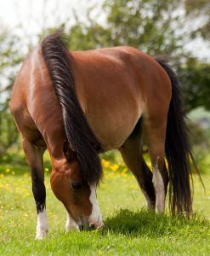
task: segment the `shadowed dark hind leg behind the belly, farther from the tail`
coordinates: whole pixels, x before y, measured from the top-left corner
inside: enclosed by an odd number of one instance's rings
[[[141,131],[138,126],[136,126],[135,130],[137,132],[134,131],[119,150],[122,154],[122,159],[133,172],[140,189],[145,195],[148,209],[153,210],[155,208],[156,195],[152,183],[152,172],[150,172],[150,168],[146,165],[141,154]]]

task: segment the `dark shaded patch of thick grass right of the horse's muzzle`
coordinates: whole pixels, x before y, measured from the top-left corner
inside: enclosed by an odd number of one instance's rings
[[[131,212],[128,209],[117,211],[112,217],[105,220],[105,228],[102,234],[115,233],[126,236],[184,236],[184,234],[198,235],[207,232],[210,224],[207,220],[193,217],[190,221],[177,217],[163,216],[155,212],[148,212],[145,208],[139,212]]]

